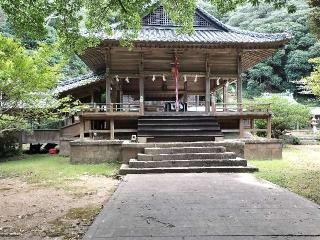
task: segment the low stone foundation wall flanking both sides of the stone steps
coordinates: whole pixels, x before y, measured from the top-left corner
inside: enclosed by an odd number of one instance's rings
[[[121,161],[127,164],[137,158],[144,148],[175,147],[182,143],[132,143],[122,140],[76,140],[70,142],[70,161],[72,163],[103,163]],[[224,140],[212,142],[223,146],[227,152],[247,160],[268,160],[282,158],[282,142],[275,139]],[[65,151],[66,152],[66,151]]]

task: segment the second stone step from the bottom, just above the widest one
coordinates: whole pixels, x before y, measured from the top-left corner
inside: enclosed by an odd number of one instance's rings
[[[130,168],[169,168],[169,167],[217,167],[217,166],[247,166],[247,161],[236,159],[193,159],[193,160],[162,160],[138,161],[130,159]]]

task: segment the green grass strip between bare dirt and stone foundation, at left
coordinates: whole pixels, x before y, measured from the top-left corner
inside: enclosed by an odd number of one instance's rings
[[[114,176],[119,163],[77,164],[69,163],[69,158],[52,155],[30,155],[20,160],[0,162],[0,177],[23,177],[29,183],[55,184],[76,179],[81,175]]]

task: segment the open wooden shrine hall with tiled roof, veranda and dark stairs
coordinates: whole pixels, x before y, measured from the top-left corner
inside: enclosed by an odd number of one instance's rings
[[[142,21],[131,50],[119,43],[123,32],[102,35],[99,46],[80,56],[92,73],[59,84],[61,96],[84,104],[73,135],[136,135],[142,142],[243,138],[257,133],[255,119],[266,119],[267,129],[259,131],[271,137],[270,106],[244,104],[240,76],[283,47],[287,34],[235,29],[199,7],[192,35],[178,34],[162,7]]]

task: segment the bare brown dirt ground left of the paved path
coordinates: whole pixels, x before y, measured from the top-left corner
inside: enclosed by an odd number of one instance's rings
[[[59,187],[0,179],[0,239],[81,239],[118,183],[89,175]]]

